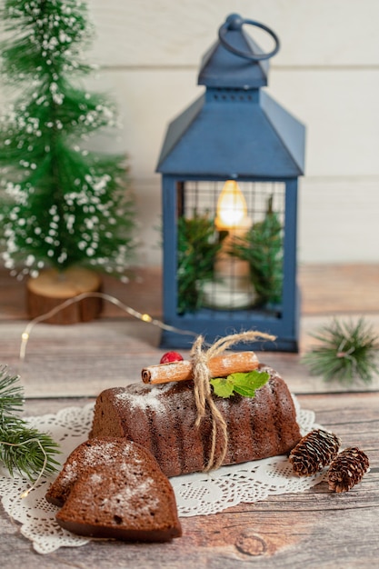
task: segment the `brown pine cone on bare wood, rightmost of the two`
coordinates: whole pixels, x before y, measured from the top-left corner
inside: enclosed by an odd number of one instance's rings
[[[354,484],[361,482],[370,463],[364,451],[357,446],[345,448],[330,465],[328,473],[329,490],[348,492]]]

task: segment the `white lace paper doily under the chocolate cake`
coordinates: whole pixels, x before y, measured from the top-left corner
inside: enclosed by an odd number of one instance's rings
[[[302,434],[319,425],[314,413],[300,409],[296,400],[297,421]],[[57,414],[30,417],[27,421],[40,432],[53,436],[60,444],[61,464],[78,444],[84,442],[92,424],[94,404],[68,407]],[[208,515],[221,512],[240,502],[253,503],[269,495],[303,492],[320,483],[324,473],[299,478],[285,456],[224,466],[210,474],[187,474],[171,478],[179,516]],[[35,551],[47,554],[61,546],[86,544],[89,540],[63,530],[55,522],[58,508],[48,504],[45,493],[53,477],[43,478],[25,498],[20,495],[28,488],[22,477],[11,478],[0,467],[0,494],[5,512],[21,524],[21,533],[33,542]]]

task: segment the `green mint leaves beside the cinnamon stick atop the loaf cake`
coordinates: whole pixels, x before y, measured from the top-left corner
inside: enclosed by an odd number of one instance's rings
[[[214,394],[219,397],[230,397],[234,392],[244,397],[254,397],[255,391],[269,380],[267,372],[253,370],[246,374],[230,374],[227,377],[217,377],[211,379],[214,387]]]

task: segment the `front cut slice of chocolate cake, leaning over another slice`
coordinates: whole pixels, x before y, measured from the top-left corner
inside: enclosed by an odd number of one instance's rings
[[[82,473],[56,514],[57,523],[74,534],[125,541],[180,537],[171,484],[153,456],[137,445],[134,451],[134,461],[118,458]]]

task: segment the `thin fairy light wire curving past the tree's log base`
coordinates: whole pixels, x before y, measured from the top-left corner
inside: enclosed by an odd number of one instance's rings
[[[119,308],[124,310],[125,313],[130,314],[135,319],[140,320],[141,322],[145,322],[147,324],[153,324],[154,326],[157,326],[157,327],[161,328],[162,330],[166,330],[168,332],[175,332],[176,334],[192,335],[194,337],[197,337],[197,334],[191,330],[182,330],[180,328],[176,328],[175,326],[165,324],[164,322],[162,322],[161,320],[158,320],[157,318],[154,318],[150,314],[141,313],[138,310],[135,310],[135,308],[132,308],[131,306],[128,306],[127,304],[124,304],[121,300],[119,300],[118,298],[116,298],[112,294],[81,293],[81,294],[77,294],[73,298],[69,298],[68,300],[65,300],[61,304],[58,304],[57,306],[55,306],[54,308],[52,308],[51,310],[49,310],[45,314],[40,314],[39,316],[36,316],[33,320],[31,320],[27,324],[24,332],[21,334],[21,345],[20,345],[20,356],[19,357],[20,357],[20,360],[22,363],[24,363],[24,361],[25,361],[26,346],[27,346],[27,343],[29,341],[31,332],[32,332],[33,328],[35,327],[35,324],[38,324],[40,322],[44,322],[44,320],[51,318],[52,316],[54,316],[55,314],[57,314],[61,310],[64,310],[67,306],[70,306],[71,304],[80,302],[81,300],[85,300],[85,298],[101,298],[102,300],[105,300],[105,301],[108,301],[112,304],[115,304],[116,306],[118,306]]]

